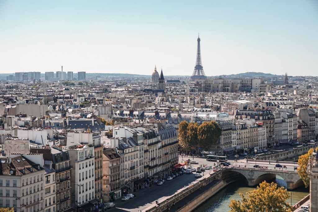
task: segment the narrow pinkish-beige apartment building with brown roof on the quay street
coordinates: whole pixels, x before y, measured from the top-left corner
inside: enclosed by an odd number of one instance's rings
[[[121,197],[121,156],[117,148],[105,148],[103,151],[103,181],[104,202]]]

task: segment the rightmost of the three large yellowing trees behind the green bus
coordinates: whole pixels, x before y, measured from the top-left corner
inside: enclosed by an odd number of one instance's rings
[[[209,150],[213,145],[217,144],[222,133],[221,128],[215,121],[205,121],[198,127],[199,146],[205,150]]]

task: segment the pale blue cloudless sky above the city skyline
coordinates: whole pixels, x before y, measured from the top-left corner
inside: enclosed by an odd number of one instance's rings
[[[0,0],[0,73],[318,76],[318,1]]]

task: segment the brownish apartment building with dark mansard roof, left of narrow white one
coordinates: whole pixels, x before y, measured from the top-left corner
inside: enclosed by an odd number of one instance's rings
[[[69,152],[60,145],[45,146],[44,148],[31,148],[31,153],[44,155],[45,163],[52,162],[56,181],[56,211],[62,212],[72,207],[71,202],[71,163]]]

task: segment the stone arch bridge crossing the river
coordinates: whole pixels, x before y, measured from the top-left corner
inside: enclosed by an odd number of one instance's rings
[[[284,179],[289,190],[303,185],[298,172],[292,170],[247,167],[225,167],[222,170],[222,179],[229,179],[238,175],[243,175],[246,178],[248,186],[258,185],[264,180],[272,180],[276,178],[276,175]]]

